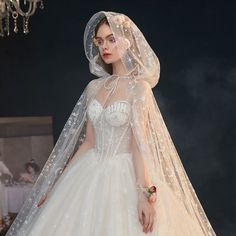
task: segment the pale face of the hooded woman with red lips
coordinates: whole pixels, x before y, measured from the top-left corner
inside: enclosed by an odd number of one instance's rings
[[[122,56],[122,40],[118,41],[107,24],[102,24],[95,37],[96,45],[98,46],[100,55],[106,64],[115,63]],[[124,51],[124,50],[123,50]]]

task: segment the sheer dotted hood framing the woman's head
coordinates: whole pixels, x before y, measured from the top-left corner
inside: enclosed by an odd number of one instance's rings
[[[137,80],[146,80],[154,87],[160,75],[159,60],[135,23],[121,13],[101,11],[88,22],[84,33],[84,48],[91,73],[99,77],[109,75],[94,44],[95,28],[103,18],[107,19],[116,42],[126,41],[118,47],[126,74],[132,74]]]

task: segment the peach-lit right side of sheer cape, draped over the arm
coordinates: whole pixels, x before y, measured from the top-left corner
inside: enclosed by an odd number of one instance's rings
[[[173,232],[181,232],[179,225],[182,221],[194,228],[191,235],[215,235],[185,172],[150,85],[144,81],[138,82],[132,91],[131,127],[135,140],[132,141],[132,152],[137,184],[157,186],[157,212],[166,215],[173,225]]]

